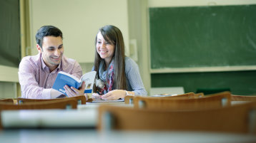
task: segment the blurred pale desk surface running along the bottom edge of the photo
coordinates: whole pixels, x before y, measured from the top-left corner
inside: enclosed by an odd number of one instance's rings
[[[205,132],[97,132],[95,129],[7,129],[0,131],[0,142],[8,143],[238,143],[256,142],[256,137],[243,134]]]

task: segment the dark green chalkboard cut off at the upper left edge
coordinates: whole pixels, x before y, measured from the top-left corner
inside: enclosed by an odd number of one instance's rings
[[[19,0],[0,0],[0,65],[18,68],[21,60]]]

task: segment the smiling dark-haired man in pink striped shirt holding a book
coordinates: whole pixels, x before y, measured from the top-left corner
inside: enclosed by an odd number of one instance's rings
[[[82,68],[76,60],[66,58],[62,32],[54,26],[42,26],[36,33],[36,48],[39,54],[26,56],[19,64],[19,83],[21,97],[51,99],[63,96],[52,89],[56,75],[64,71],[77,78],[82,76]],[[84,95],[85,85],[77,90],[65,86],[69,97]]]

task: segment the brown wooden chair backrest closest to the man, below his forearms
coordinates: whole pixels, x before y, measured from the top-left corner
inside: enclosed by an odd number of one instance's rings
[[[74,96],[74,97],[54,98],[54,99],[29,99],[29,98],[22,98],[22,97],[17,98],[18,104],[23,104],[26,102],[44,102],[44,101],[60,101],[60,100],[77,100],[78,105],[85,105],[87,102],[86,97],[84,95]]]

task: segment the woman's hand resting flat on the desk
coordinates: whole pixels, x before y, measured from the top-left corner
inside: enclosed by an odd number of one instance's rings
[[[124,98],[126,95],[125,90],[112,90],[102,95],[102,100],[118,100],[119,98]]]

